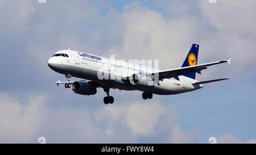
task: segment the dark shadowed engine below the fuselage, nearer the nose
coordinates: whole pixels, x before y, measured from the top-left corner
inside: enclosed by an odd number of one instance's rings
[[[97,93],[96,87],[82,81],[75,81],[72,85],[72,90],[80,95],[94,95]]]

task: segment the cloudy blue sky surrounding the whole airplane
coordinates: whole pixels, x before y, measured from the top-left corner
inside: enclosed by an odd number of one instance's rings
[[[0,1],[0,143],[255,143],[255,2]],[[180,67],[192,43],[199,80],[229,77],[191,93],[143,100],[139,91],[76,95],[47,60],[61,49]],[[76,79],[76,78],[73,78]]]

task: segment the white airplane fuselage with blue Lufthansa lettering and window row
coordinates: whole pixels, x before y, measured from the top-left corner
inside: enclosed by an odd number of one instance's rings
[[[61,53],[68,55],[68,57],[58,55],[48,60],[49,67],[55,70],[55,72],[61,74],[70,73],[73,77],[96,81],[101,83],[101,85],[114,89],[140,91],[149,89],[153,94],[171,95],[203,87],[203,85],[192,85],[192,83],[197,81],[185,76],[179,76],[179,81],[175,78],[166,78],[163,81],[159,81],[155,86],[148,88],[135,87],[129,85],[122,77],[134,73],[150,73],[156,69],[72,50],[58,51],[55,55]]]

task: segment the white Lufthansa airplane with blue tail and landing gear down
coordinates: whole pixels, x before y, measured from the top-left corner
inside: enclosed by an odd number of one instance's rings
[[[174,95],[203,88],[203,84],[222,81],[229,78],[197,81],[196,73],[208,66],[222,64],[230,60],[197,64],[199,45],[192,47],[181,68],[159,70],[151,66],[134,64],[113,58],[96,56],[85,52],[73,51],[70,48],[55,52],[48,60],[48,66],[57,73],[64,74],[67,81],[55,82],[64,84],[73,92],[81,95],[94,95],[97,88],[102,88],[107,96],[105,104],[114,103],[109,95],[110,89],[139,90],[143,99],[152,99],[153,94]],[[71,77],[81,78],[71,81]]]

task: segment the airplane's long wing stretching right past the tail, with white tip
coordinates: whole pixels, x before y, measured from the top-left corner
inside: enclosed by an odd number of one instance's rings
[[[201,74],[201,70],[207,69],[207,66],[222,64],[225,62],[229,62],[229,64],[230,64],[230,60],[231,60],[231,58],[229,60],[210,62],[207,64],[193,65],[193,66],[187,66],[187,67],[183,67],[183,68],[176,68],[176,69],[169,69],[169,70],[161,70],[158,72],[151,72],[149,74],[151,74],[151,75],[158,74],[159,80],[163,80],[164,78],[172,78],[172,77],[174,77],[177,80],[180,80],[178,76],[188,74],[188,73],[193,73],[193,72],[197,72],[197,73]]]

